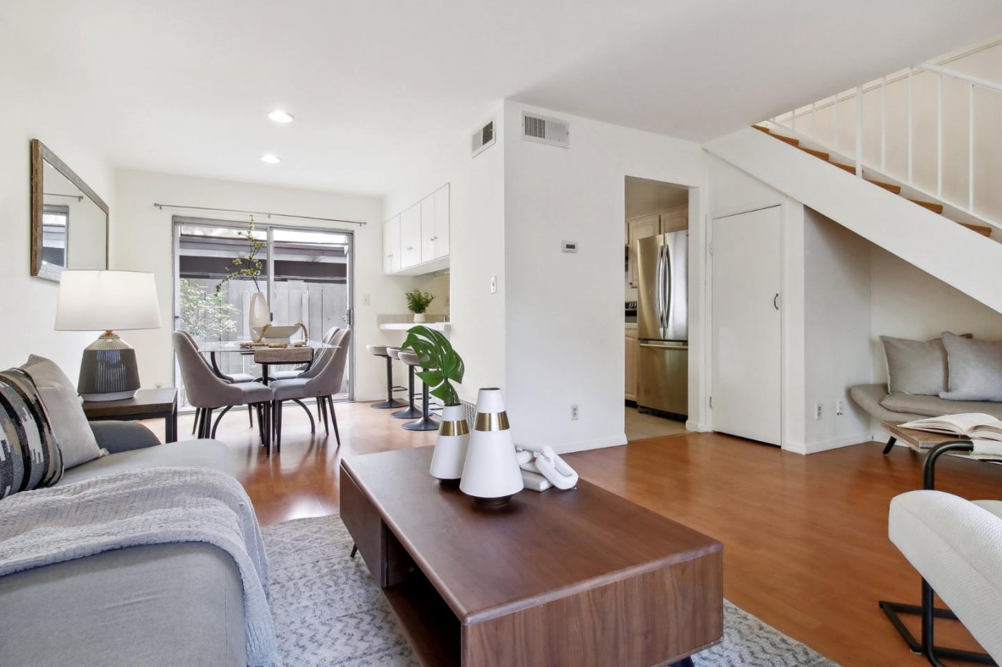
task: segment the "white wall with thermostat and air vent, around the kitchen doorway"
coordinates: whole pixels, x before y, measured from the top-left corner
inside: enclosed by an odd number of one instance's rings
[[[701,150],[539,109],[570,121],[570,147],[524,141],[525,108],[504,104],[505,394],[514,437],[563,451],[622,444],[624,176],[697,187]],[[690,214],[700,210],[696,200]],[[692,247],[700,236],[691,233]],[[580,249],[563,253],[561,240]],[[690,317],[697,329],[698,304]],[[701,351],[690,349],[690,359],[693,352]]]

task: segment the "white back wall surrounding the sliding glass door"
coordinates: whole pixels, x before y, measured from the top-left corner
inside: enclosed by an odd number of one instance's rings
[[[119,170],[117,211],[114,232],[114,262],[117,268],[151,270],[156,276],[162,326],[155,330],[127,331],[123,337],[135,349],[139,375],[144,387],[174,383],[173,352],[173,264],[171,217],[191,211],[157,209],[153,202],[239,208],[292,213],[349,220],[366,225],[311,223],[307,220],[276,219],[277,224],[317,226],[351,231],[355,234],[355,351],[356,398],[369,401],[386,397],[386,367],[381,358],[365,351],[367,344],[387,345],[391,335],[377,328],[379,312],[406,312],[404,292],[412,278],[389,278],[383,274],[383,202],[375,197],[316,190],[300,190],[255,183],[177,176],[148,171]],[[205,214],[217,219],[240,219],[233,215]],[[259,216],[259,221],[261,218]],[[365,296],[369,304],[365,304]]]

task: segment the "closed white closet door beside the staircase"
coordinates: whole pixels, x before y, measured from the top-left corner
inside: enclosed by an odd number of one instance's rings
[[[781,444],[782,208],[712,223],[713,431]]]

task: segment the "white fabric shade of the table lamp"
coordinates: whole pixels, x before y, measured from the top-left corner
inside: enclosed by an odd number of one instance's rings
[[[153,274],[144,271],[64,270],[56,304],[56,330],[158,328],[160,308]]]

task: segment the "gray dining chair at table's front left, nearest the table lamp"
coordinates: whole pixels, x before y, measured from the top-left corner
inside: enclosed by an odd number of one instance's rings
[[[259,423],[262,425],[262,444],[271,456],[271,403],[274,398],[272,390],[261,383],[228,383],[222,380],[212,372],[186,333],[174,331],[171,333],[171,339],[188,403],[201,411],[198,418],[198,437],[214,436],[213,410],[229,409],[233,406],[254,406],[258,409]]]

